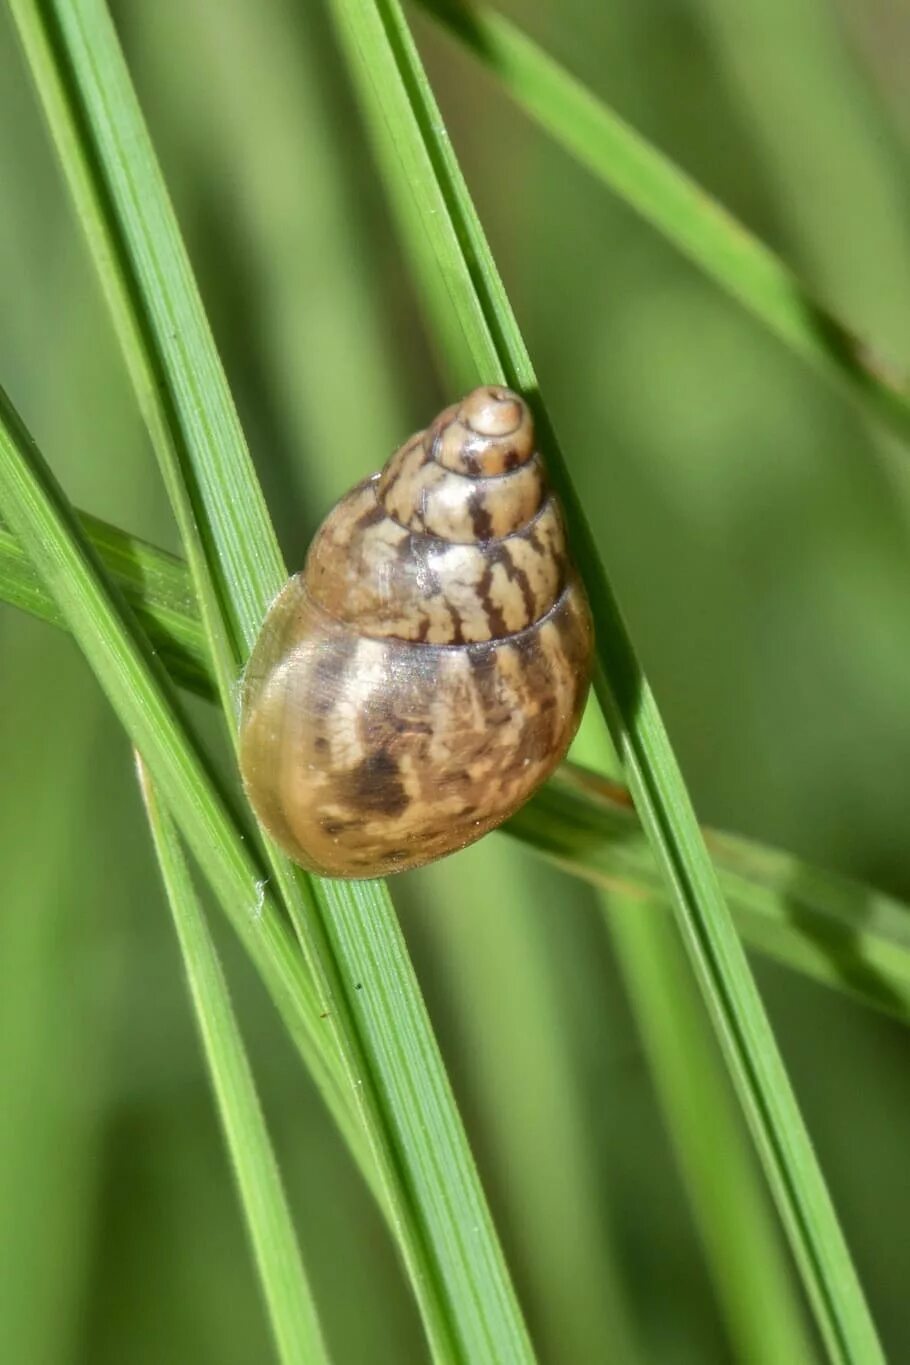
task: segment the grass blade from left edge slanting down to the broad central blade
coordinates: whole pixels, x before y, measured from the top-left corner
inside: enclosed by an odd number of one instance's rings
[[[262,867],[246,846],[164,669],[1,390],[0,515],[30,554],[371,1179],[372,1166],[349,1095],[326,1061],[312,984]]]

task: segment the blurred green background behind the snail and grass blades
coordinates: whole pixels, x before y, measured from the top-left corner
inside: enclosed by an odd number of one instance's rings
[[[906,0],[508,10],[910,370]],[[115,16],[297,566],[453,394],[322,7]],[[416,31],[699,814],[910,900],[910,453]],[[176,547],[5,14],[0,180],[0,382],[78,505]],[[64,636],[0,606],[0,1360],[267,1360],[128,745]],[[593,893],[503,835],[393,890],[542,1358],[730,1360]],[[336,1357],[423,1360],[385,1228],[220,940]],[[754,965],[907,1358],[907,1039]]]

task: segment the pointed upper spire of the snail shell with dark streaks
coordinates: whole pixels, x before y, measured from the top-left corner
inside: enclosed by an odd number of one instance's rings
[[[527,629],[566,584],[562,517],[525,404],[476,389],[338,502],[304,581],[378,639],[469,644]]]

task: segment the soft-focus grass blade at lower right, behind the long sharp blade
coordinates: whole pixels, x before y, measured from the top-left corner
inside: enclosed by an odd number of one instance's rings
[[[613,773],[598,721],[585,715],[573,758]],[[814,1351],[793,1267],[679,936],[641,885],[617,878],[598,898],[733,1358],[808,1365]]]

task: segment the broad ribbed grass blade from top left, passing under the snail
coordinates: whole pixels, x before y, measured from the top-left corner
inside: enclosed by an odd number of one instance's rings
[[[14,14],[143,401],[236,734],[236,677],[284,580],[274,532],[105,5],[14,0]],[[378,883],[357,891],[323,885],[314,900],[271,848],[269,859],[435,1353],[527,1358],[521,1313],[387,893]],[[363,1009],[356,981],[370,960],[382,980]],[[420,1061],[416,1078],[402,1055]]]

